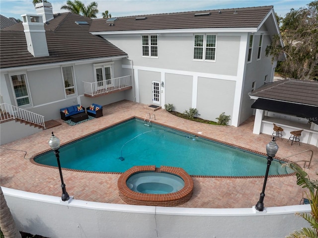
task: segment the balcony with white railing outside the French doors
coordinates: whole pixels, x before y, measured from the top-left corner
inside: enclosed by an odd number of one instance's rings
[[[85,96],[100,96],[132,88],[131,76],[107,79],[98,82],[83,82]]]

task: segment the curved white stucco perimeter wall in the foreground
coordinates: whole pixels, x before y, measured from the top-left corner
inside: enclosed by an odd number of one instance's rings
[[[282,238],[309,224],[310,205],[207,209],[87,202],[2,187],[19,231],[50,238]],[[255,201],[256,203],[257,201]],[[265,198],[266,205],[266,198]]]

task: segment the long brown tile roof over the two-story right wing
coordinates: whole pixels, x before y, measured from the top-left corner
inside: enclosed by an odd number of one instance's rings
[[[109,23],[106,22],[107,19],[94,19],[89,30],[90,32],[106,32],[158,29],[258,27],[272,8],[273,6],[259,6],[126,16],[117,17],[117,20],[112,22],[114,25],[112,25],[112,23],[109,25]],[[195,14],[208,12],[210,12],[209,15],[195,16]]]

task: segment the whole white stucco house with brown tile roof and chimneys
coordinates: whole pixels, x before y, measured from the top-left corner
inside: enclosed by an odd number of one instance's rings
[[[90,19],[44,2],[22,18],[1,30],[1,103],[44,121],[125,99],[207,120],[225,112],[239,126],[253,113],[248,92],[273,81],[273,6]]]

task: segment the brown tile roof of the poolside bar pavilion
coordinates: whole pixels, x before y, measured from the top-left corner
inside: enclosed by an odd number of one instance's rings
[[[249,95],[318,106],[318,81],[285,79],[265,84]]]

